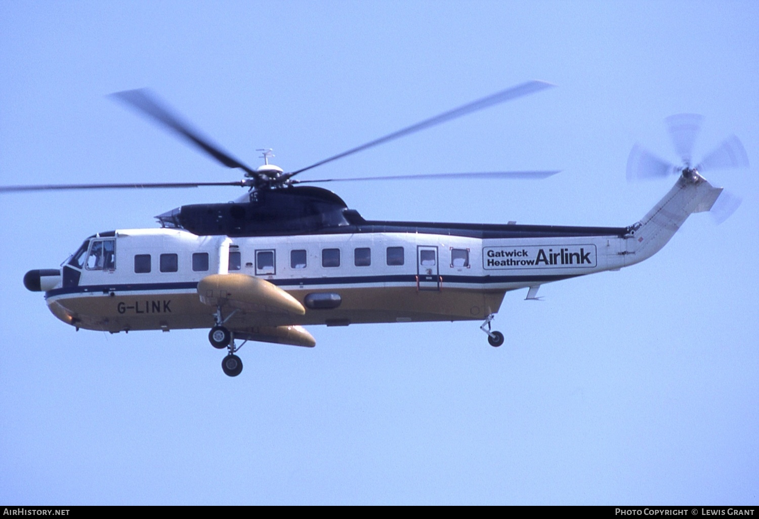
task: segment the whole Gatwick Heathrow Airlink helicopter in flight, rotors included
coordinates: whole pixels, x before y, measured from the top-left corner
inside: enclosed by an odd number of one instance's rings
[[[6,186],[0,193],[201,186],[238,186],[247,192],[231,203],[163,212],[156,216],[157,228],[93,234],[60,269],[27,272],[24,286],[44,292],[53,315],[77,330],[209,329],[210,344],[226,350],[222,370],[228,376],[241,373],[237,353],[247,341],[313,348],[316,340],[304,328],[310,325],[474,320],[482,322],[487,341],[499,347],[505,338],[492,323],[507,291],[527,288],[526,299],[537,300],[543,284],[640,263],[657,253],[689,215],[713,209],[723,189],[713,187],[701,171],[748,166],[738,138],[723,141],[691,165],[701,118],[668,118],[682,165],[636,145],[628,159],[628,178],[676,175],[676,182],[642,219],[622,227],[368,220],[332,191],[308,185],[409,178],[540,179],[559,171],[294,177],[549,87],[553,85],[543,81],[521,83],[294,171],[270,163],[271,149],[259,150],[263,165],[245,165],[148,90],[112,94],[222,165],[244,171],[244,178]]]

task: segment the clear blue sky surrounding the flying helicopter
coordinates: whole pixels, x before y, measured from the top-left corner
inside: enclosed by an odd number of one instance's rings
[[[743,197],[621,272],[507,294],[479,322],[80,331],[26,291],[84,237],[235,188],[0,199],[0,502],[759,503],[756,2],[2,2],[2,184],[237,180],[106,94],[151,87],[226,149],[298,168],[496,90],[558,88],[307,178],[563,170],[542,182],[335,184],[370,219],[628,225],[672,179],[625,182],[667,115],[729,134]]]

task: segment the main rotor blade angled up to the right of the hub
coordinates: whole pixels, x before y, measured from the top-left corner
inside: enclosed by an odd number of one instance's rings
[[[387,134],[384,137],[379,137],[379,139],[370,140],[368,143],[364,143],[361,144],[361,146],[356,146],[355,148],[348,149],[348,151],[331,156],[328,159],[320,160],[319,162],[315,162],[314,164],[306,166],[305,168],[292,171],[291,173],[287,174],[288,178],[293,177],[294,175],[298,175],[303,171],[307,171],[309,169],[316,168],[317,166],[326,164],[327,162],[332,162],[333,160],[342,159],[343,157],[364,151],[364,149],[369,149],[373,146],[378,146],[379,144],[387,143],[391,140],[414,134],[417,131],[426,130],[427,128],[436,126],[437,124],[442,124],[446,121],[451,121],[452,119],[471,114],[472,112],[477,112],[478,110],[489,108],[490,106],[497,105],[501,102],[517,99],[521,96],[527,96],[531,93],[536,93],[540,90],[544,90],[550,87],[554,87],[554,85],[551,83],[546,83],[544,81],[528,81],[527,83],[521,83],[516,87],[502,90],[498,93],[494,93],[492,96],[477,99],[477,101],[470,102],[466,105],[459,106],[456,109],[449,110],[448,112],[443,112],[442,114],[435,115],[434,117],[420,121],[417,124],[411,124],[411,126],[405,127],[402,130],[394,131],[392,134]]]

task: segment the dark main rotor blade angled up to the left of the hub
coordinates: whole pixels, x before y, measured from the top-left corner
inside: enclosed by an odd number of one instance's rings
[[[149,90],[144,88],[138,90],[124,90],[123,92],[112,93],[110,97],[124,102],[132,108],[137,109],[137,111],[142,112],[144,115],[148,115],[150,118],[163,124],[165,127],[168,127],[169,130],[175,131],[181,137],[184,137],[184,139],[190,141],[228,168],[241,168],[242,170],[255,175],[254,171],[247,165],[244,165],[238,159],[235,159],[229,153],[223,151],[216,144],[211,143],[207,137],[203,137],[200,132],[191,127],[189,123],[182,121],[178,115],[172,114],[165,105],[162,105],[155,96],[150,94]]]

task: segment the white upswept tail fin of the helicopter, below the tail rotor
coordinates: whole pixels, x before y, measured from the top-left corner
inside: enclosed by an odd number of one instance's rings
[[[681,175],[666,196],[640,222],[630,227],[625,266],[639,263],[659,252],[694,212],[708,211],[722,187],[713,187],[695,171]]]

